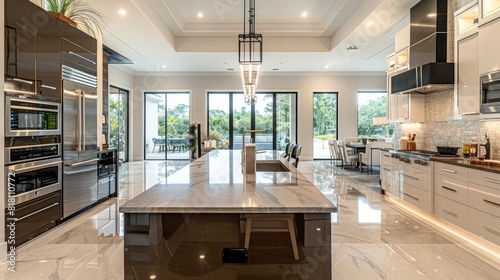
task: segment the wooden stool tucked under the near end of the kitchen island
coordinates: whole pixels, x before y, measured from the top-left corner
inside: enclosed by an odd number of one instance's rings
[[[299,259],[299,250],[297,248],[297,239],[295,238],[295,223],[293,222],[293,214],[246,214],[245,227],[245,249],[248,250],[250,245],[250,234],[252,232],[289,232],[292,240],[293,257]],[[286,228],[252,228],[253,221],[286,221]]]

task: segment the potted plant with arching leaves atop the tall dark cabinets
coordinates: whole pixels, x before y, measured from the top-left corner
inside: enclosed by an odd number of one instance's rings
[[[102,34],[103,16],[86,0],[45,0],[45,10],[96,38]]]

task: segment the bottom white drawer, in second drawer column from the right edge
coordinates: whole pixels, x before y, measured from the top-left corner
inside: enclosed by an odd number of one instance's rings
[[[467,213],[469,207],[467,205],[444,198],[440,195],[434,196],[434,202],[434,211],[436,216],[469,230],[467,223]]]

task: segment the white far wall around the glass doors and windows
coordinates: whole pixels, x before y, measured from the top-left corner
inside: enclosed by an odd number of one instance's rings
[[[144,92],[158,90],[190,90],[190,122],[206,129],[207,92],[241,91],[240,78],[234,76],[140,76],[134,77],[131,102],[134,118],[132,142],[133,160],[143,160]],[[302,157],[313,155],[313,93],[339,93],[339,138],[357,135],[357,92],[386,90],[385,76],[262,76],[258,91],[293,91],[298,97],[298,142],[303,145]],[[205,131],[203,131],[205,133]]]

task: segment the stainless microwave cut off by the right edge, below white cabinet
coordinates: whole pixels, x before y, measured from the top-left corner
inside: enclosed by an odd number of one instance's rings
[[[500,113],[500,71],[482,75],[481,113]]]

